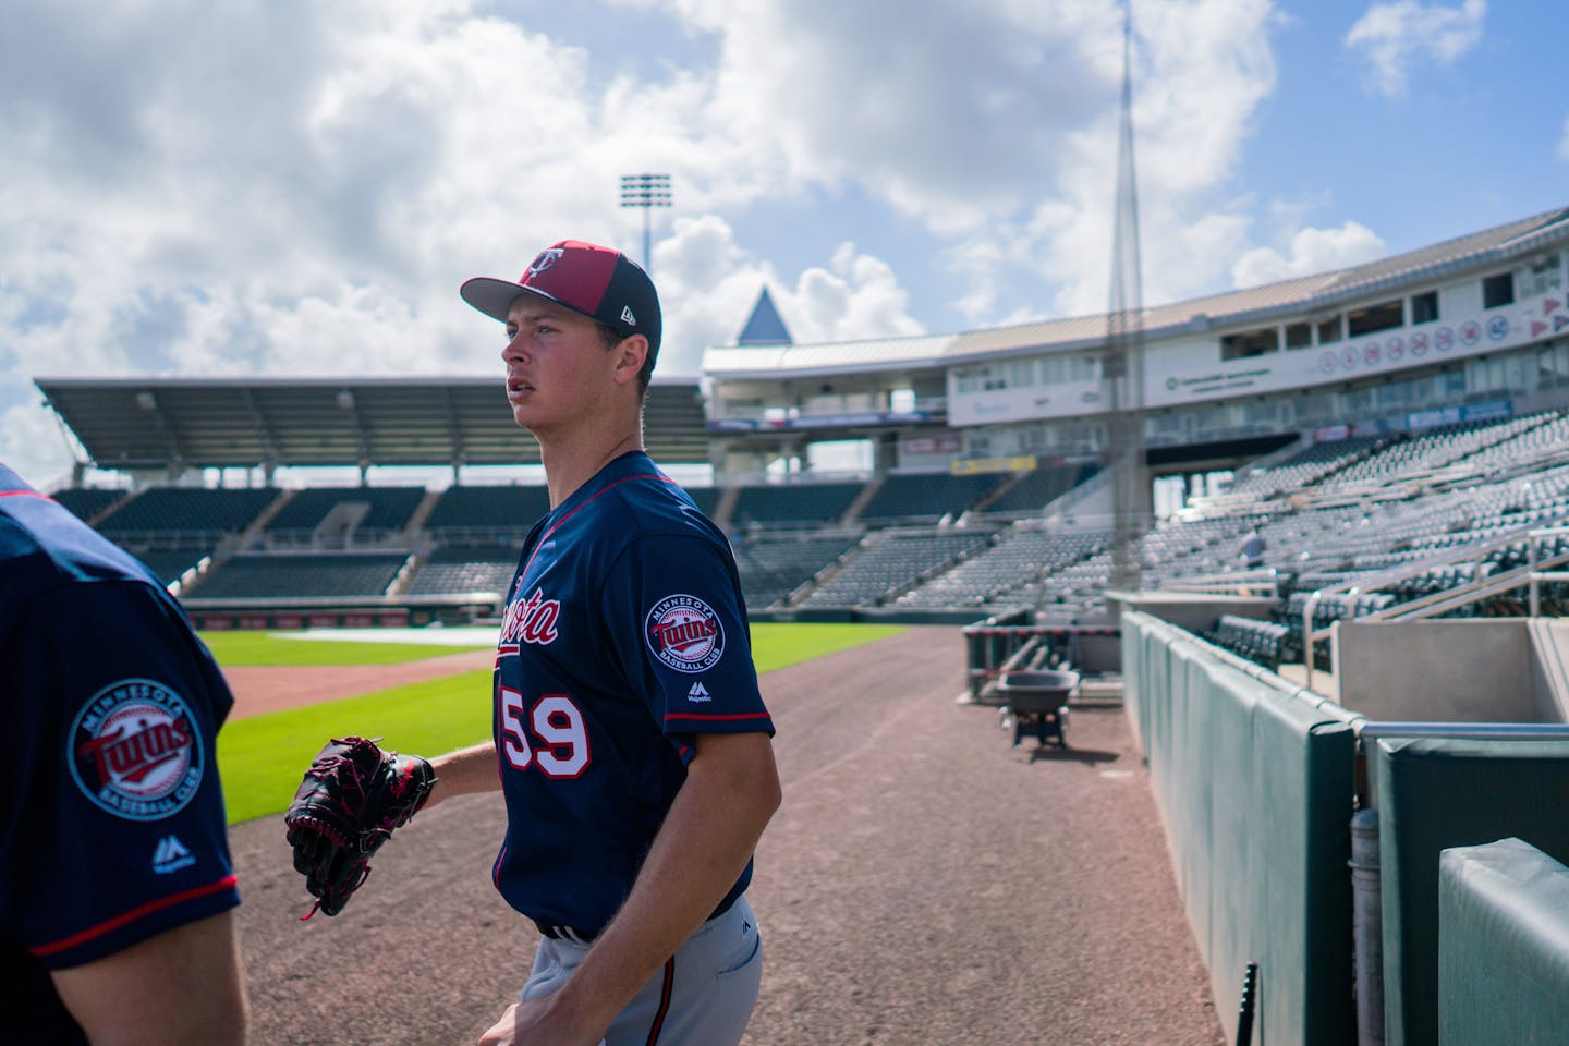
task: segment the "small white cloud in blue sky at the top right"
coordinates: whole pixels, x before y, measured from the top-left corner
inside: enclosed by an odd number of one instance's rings
[[[1461,6],[1418,0],[1374,3],[1346,33],[1345,44],[1368,63],[1368,80],[1385,97],[1403,97],[1414,66],[1453,63],[1481,41],[1487,0]]]

